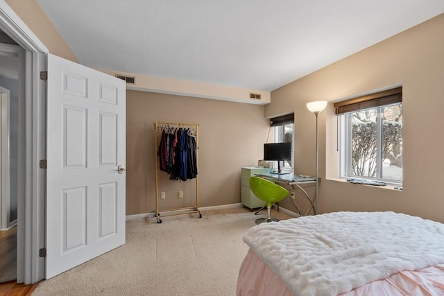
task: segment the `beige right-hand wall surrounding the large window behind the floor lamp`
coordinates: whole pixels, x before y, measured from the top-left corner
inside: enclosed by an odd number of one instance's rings
[[[296,173],[315,173],[316,121],[305,104],[330,101],[319,119],[321,212],[396,211],[444,222],[443,36],[439,15],[272,92],[266,116],[295,112]],[[403,87],[404,190],[325,180],[337,176],[331,102],[397,84]],[[282,205],[291,209],[288,200]]]

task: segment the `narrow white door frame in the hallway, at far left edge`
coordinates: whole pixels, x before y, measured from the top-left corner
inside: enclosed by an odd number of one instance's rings
[[[0,229],[10,227],[9,89],[0,86]]]

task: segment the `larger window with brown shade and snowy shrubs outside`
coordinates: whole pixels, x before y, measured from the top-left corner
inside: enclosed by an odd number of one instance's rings
[[[334,107],[340,176],[402,184],[402,88]]]

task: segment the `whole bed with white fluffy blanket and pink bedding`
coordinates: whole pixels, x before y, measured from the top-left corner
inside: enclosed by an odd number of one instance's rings
[[[237,295],[444,295],[444,224],[393,212],[262,223]]]

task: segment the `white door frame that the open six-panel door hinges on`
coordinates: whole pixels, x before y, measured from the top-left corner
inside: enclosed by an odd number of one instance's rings
[[[44,278],[46,89],[40,71],[46,70],[49,50],[4,0],[0,0],[0,29],[25,50],[19,79],[19,180],[17,218],[17,282],[33,284]],[[20,76],[20,74],[19,74]]]

